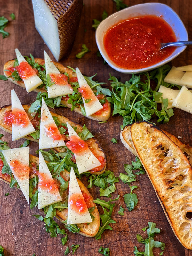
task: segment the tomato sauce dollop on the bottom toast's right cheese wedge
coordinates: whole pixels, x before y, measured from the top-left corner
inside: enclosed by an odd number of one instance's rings
[[[69,204],[74,211],[81,214],[87,209],[87,205],[82,194],[72,194],[69,198]]]

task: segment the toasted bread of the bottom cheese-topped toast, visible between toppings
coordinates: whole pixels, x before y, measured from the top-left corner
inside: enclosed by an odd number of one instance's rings
[[[30,163],[35,163],[37,166],[39,165],[39,158],[36,156],[30,155],[29,161],[30,161]],[[65,170],[65,171],[61,172],[61,174],[63,177],[65,177],[66,180],[69,180],[70,173],[68,171]],[[7,184],[10,184],[11,177],[9,174],[1,174],[1,172],[0,172],[0,180],[4,181]],[[99,212],[98,212],[97,206],[93,202],[93,198],[90,195],[87,188],[84,186],[84,184],[79,179],[77,179],[77,181],[78,181],[81,191],[90,196],[90,199],[89,199],[90,207],[95,207],[95,209],[92,211],[92,215],[95,217],[95,219],[89,225],[87,225],[87,223],[78,224],[78,227],[80,228],[79,234],[81,234],[83,236],[87,236],[87,237],[94,237],[94,236],[96,236],[97,232],[99,231],[99,227],[100,227]],[[64,221],[67,219],[67,213],[68,213],[68,209],[63,209],[61,212],[56,210],[55,217],[64,223]]]

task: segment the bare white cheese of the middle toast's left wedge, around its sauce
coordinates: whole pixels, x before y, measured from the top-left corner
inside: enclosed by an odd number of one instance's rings
[[[13,90],[11,90],[11,109],[12,109],[12,111],[14,110],[14,108],[25,112],[15,90],[13,89]],[[20,138],[23,138],[23,137],[35,132],[35,129],[34,129],[33,125],[31,124],[31,121],[26,112],[25,112],[25,114],[26,114],[26,119],[28,119],[28,122],[29,122],[28,126],[21,127],[20,125],[12,124],[12,140],[13,141],[19,140]]]

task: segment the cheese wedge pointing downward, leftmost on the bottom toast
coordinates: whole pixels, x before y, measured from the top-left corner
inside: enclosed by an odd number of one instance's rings
[[[7,164],[9,164],[23,195],[29,203],[29,147],[6,149],[1,152],[4,155]],[[25,168],[21,169],[20,166],[18,167],[18,170],[16,170],[11,164],[12,161],[19,161]]]

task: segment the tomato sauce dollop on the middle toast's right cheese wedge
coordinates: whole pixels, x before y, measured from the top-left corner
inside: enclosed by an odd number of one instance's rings
[[[88,149],[88,144],[84,140],[81,140],[76,136],[70,136],[68,139],[69,141],[66,143],[66,146],[73,153],[81,155]]]

